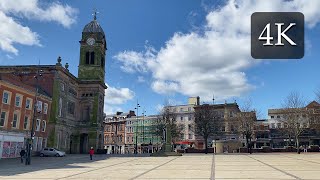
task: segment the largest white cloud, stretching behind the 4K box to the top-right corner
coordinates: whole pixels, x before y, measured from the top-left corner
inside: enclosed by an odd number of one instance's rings
[[[258,61],[250,56],[250,20],[253,12],[301,11],[307,27],[320,20],[318,0],[229,0],[210,11],[202,33],[175,33],[159,51],[124,51],[115,56],[126,72],[152,72],[155,92],[181,93],[217,100],[246,94],[255,86],[245,73]]]

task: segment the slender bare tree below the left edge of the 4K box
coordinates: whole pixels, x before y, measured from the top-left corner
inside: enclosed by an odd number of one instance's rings
[[[252,108],[252,101],[246,100],[242,107],[241,112],[237,114],[237,132],[240,136],[246,139],[247,152],[252,153],[252,136],[257,125],[257,112]]]

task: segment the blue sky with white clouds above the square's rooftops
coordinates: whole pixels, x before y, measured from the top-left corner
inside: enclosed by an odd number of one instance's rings
[[[319,0],[1,0],[0,65],[52,65],[78,75],[81,32],[97,21],[107,39],[105,113],[157,114],[163,105],[248,99],[266,118],[291,92],[307,101],[320,88]],[[254,12],[302,12],[305,56],[257,60]]]

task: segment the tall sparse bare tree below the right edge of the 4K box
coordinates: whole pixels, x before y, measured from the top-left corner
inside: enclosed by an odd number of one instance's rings
[[[309,112],[305,108],[305,98],[298,92],[291,92],[283,101],[282,122],[284,131],[289,137],[295,139],[297,153],[300,153],[299,140],[301,134],[307,129],[309,123]]]

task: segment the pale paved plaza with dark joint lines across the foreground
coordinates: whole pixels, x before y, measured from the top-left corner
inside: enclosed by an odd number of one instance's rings
[[[320,154],[87,155],[0,160],[0,179],[319,179]]]

